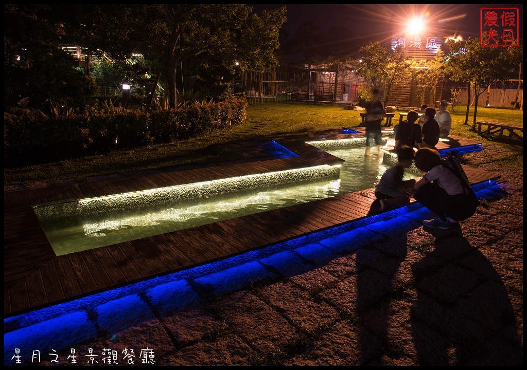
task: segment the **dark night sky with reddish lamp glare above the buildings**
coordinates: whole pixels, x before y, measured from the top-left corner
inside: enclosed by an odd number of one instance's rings
[[[393,31],[407,24],[414,15],[429,15],[430,21],[450,19],[441,23],[443,33],[479,37],[480,8],[482,7],[513,7],[519,8],[519,34],[523,38],[523,5],[522,4],[249,4],[255,12],[262,9],[275,9],[281,5],[287,6],[287,22],[285,31],[294,33],[302,23],[313,21],[319,25],[320,31],[331,26],[346,26],[353,31],[353,37],[376,37],[379,41],[393,35]],[[324,21],[323,21],[324,20]],[[436,24],[437,25],[437,24]]]

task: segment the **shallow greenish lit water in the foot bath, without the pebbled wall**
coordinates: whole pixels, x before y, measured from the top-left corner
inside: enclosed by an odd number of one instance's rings
[[[324,150],[345,160],[340,174],[208,195],[200,195],[194,189],[190,199],[172,197],[172,200],[163,198],[149,204],[137,202],[108,212],[65,211],[64,205],[73,202],[37,206],[35,212],[55,253],[63,255],[360,191],[374,187],[391,166],[383,157],[365,158],[363,146]],[[405,179],[417,176],[416,172],[405,173]],[[96,199],[91,202],[95,204]],[[72,209],[80,209],[77,203]],[[46,207],[59,206],[63,208],[55,213],[61,214],[61,219],[48,217],[50,208]]]

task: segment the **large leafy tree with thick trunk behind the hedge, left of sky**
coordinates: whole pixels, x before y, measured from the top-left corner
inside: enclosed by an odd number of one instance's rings
[[[216,69],[231,74],[236,62],[257,71],[278,64],[275,53],[286,8],[260,15],[251,12],[252,7],[245,4],[164,5],[165,22],[172,32],[159,55],[158,78],[161,73],[165,76],[171,108],[177,107],[177,76],[183,74],[183,63],[201,66],[207,73]]]

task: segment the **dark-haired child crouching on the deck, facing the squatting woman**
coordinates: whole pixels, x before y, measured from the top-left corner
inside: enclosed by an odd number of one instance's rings
[[[410,203],[402,183],[404,169],[412,165],[413,159],[414,148],[404,145],[397,150],[397,163],[388,168],[375,185],[375,197],[379,199],[380,211]]]

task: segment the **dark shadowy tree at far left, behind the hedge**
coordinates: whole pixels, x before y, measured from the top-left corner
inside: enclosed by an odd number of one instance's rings
[[[61,27],[40,17],[46,4],[4,7],[4,106],[30,97],[33,108],[81,106],[96,86],[73,68],[73,58],[58,48]]]

